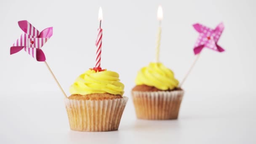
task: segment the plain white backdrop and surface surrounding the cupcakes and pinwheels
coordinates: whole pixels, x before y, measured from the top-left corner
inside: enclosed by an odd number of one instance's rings
[[[120,74],[131,98],[137,71],[155,59],[159,4],[160,61],[180,81],[195,59],[192,24],[225,25],[219,45],[226,51],[203,50],[183,85],[178,120],[137,120],[129,99],[119,131],[70,131],[63,95],[45,64],[24,51],[9,55],[22,33],[17,21],[28,20],[40,31],[53,27],[43,51],[69,94],[75,78],[95,64],[101,6],[101,66]],[[255,0],[1,0],[0,143],[255,144],[255,6]]]

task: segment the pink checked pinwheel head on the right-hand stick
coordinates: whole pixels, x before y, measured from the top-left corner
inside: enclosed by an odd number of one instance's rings
[[[215,29],[210,29],[202,24],[194,24],[193,27],[200,33],[194,47],[195,54],[200,53],[204,47],[219,52],[225,51],[217,44],[219,37],[224,30],[223,23],[220,23]]]

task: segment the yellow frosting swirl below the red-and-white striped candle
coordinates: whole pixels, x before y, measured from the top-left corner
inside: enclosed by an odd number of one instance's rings
[[[89,69],[75,80],[69,91],[71,94],[110,93],[123,96],[124,85],[119,80],[119,75],[112,71],[96,72]]]

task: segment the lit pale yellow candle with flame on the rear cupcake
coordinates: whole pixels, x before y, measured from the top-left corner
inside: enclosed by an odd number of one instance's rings
[[[163,20],[163,8],[161,5],[158,6],[157,11],[157,19],[159,21],[159,27],[157,32],[157,46],[156,46],[156,62],[159,61],[159,48],[160,48],[160,41],[161,41],[161,32],[162,32],[162,20]]]

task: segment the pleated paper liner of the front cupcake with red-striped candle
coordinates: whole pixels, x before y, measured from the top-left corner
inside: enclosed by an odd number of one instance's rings
[[[128,97],[108,100],[65,99],[69,126],[73,131],[116,131]]]

